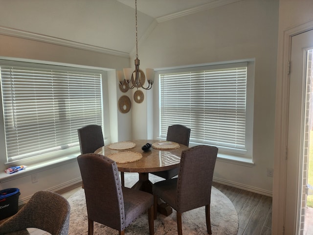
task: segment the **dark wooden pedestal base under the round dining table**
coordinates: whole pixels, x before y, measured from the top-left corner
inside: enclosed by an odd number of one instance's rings
[[[149,180],[149,173],[139,173],[139,180],[132,188],[153,194],[152,186],[153,184]],[[165,216],[168,216],[173,212],[173,209],[167,203],[164,203],[159,199],[157,211]]]

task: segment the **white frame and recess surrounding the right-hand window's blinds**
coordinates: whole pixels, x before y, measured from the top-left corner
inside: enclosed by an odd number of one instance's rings
[[[199,71],[209,70],[215,68],[224,68],[225,66],[233,66],[237,63],[247,63],[246,71],[246,151],[236,151],[229,148],[219,146],[218,157],[220,159],[234,160],[236,162],[244,162],[253,164],[253,110],[254,110],[254,71],[255,61],[254,59],[219,62],[219,63],[208,63],[201,65],[189,65],[180,66],[174,68],[162,68],[156,69],[156,80],[155,80],[155,94],[154,94],[154,107],[155,107],[155,127],[154,133],[157,139],[164,140],[164,137],[160,136],[160,74],[164,73],[176,73],[186,71]],[[179,124],[179,123],[177,123]],[[189,146],[195,146],[203,144],[201,142],[190,141]]]

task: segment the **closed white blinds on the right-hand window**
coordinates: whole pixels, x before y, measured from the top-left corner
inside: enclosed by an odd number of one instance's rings
[[[160,136],[183,124],[192,142],[245,150],[246,66],[160,74]]]

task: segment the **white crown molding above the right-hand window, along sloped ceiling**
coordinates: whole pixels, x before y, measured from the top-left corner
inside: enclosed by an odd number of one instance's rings
[[[197,13],[197,12],[204,11],[207,9],[212,9],[212,8],[216,8],[219,6],[224,6],[224,5],[227,5],[227,4],[230,4],[233,2],[237,2],[237,1],[242,1],[242,0],[215,0],[215,1],[203,4],[203,5],[200,5],[200,6],[189,8],[187,10],[183,10],[183,11],[175,12],[173,14],[168,14],[165,16],[158,17],[158,18],[156,18],[156,21],[157,21],[157,23],[161,23],[164,21],[169,21],[169,20],[172,20],[175,18],[179,18],[179,17],[186,16],[186,15],[193,14],[193,13]]]

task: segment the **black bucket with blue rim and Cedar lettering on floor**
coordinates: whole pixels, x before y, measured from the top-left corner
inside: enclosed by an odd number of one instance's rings
[[[18,212],[20,194],[19,188],[0,190],[0,220]]]

